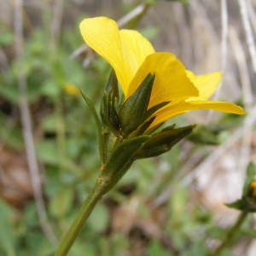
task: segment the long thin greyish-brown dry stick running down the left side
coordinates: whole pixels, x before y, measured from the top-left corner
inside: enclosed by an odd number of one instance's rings
[[[17,57],[23,52],[23,22],[22,22],[22,0],[15,0],[15,51]],[[41,224],[42,230],[53,244],[56,243],[55,235],[49,225],[46,210],[44,206],[44,199],[41,190],[40,174],[38,170],[38,162],[36,159],[35,146],[32,137],[32,119],[30,110],[28,107],[26,96],[26,77],[23,73],[19,74],[18,78],[19,92],[20,92],[20,117],[22,132],[26,147],[26,158],[30,176],[32,179],[33,195],[36,202],[38,211],[38,218]]]

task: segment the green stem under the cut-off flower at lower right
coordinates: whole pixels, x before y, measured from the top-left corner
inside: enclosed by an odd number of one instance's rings
[[[241,224],[243,224],[246,218],[247,212],[241,212],[239,217],[236,219],[236,223],[230,228],[230,230],[226,234],[224,241],[219,245],[219,247],[217,247],[214,253],[211,253],[210,255],[220,255],[220,253],[222,253],[226,247],[230,246],[237,234],[237,231],[240,229]]]

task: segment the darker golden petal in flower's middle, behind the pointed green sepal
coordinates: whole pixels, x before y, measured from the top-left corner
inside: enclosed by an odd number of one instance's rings
[[[198,96],[198,90],[187,78],[185,67],[177,57],[167,52],[148,55],[131,81],[128,96],[137,90],[148,73],[154,73],[154,85],[148,108],[160,102],[182,100]]]

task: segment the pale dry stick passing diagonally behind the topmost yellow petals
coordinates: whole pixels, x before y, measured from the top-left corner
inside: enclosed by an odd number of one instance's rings
[[[135,9],[132,9],[130,13],[123,16],[121,19],[118,20],[119,27],[124,27],[127,23],[131,20],[136,19],[140,15],[143,15],[147,12],[148,8],[150,7],[149,3],[142,3],[138,5]],[[73,51],[73,54],[70,55],[71,59],[76,58],[77,56],[83,54],[84,52],[88,51],[89,47],[86,44],[81,45],[78,49]]]

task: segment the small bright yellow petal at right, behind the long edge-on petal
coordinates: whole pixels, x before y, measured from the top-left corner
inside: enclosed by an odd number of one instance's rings
[[[222,76],[220,72],[207,73],[205,75],[195,75],[192,71],[186,71],[189,80],[199,90],[199,96],[190,98],[190,101],[207,100],[217,90]]]

